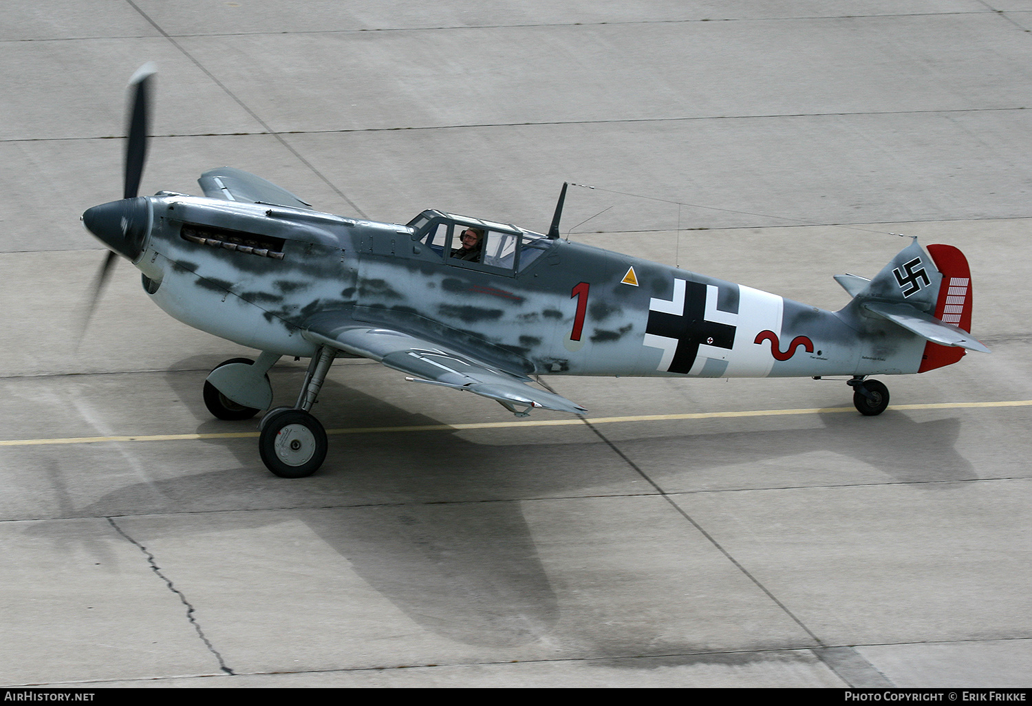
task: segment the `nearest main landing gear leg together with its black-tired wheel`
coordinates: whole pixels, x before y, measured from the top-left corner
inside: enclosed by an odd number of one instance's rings
[[[326,430],[309,411],[335,356],[336,350],[320,348],[309,364],[297,404],[270,410],[258,425],[258,453],[265,467],[281,478],[311,476],[326,458]]]

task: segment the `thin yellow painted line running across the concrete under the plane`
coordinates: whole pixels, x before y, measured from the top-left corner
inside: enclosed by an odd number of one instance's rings
[[[934,405],[893,405],[889,409],[964,410],[977,408],[1032,407],[1032,399],[990,403],[939,403]],[[804,414],[856,412],[852,407],[826,407],[805,410],[746,410],[742,412],[692,412],[686,414],[640,414],[625,417],[574,417],[569,419],[525,419],[522,421],[473,422],[469,424],[422,424],[418,426],[357,426],[347,429],[326,429],[327,435],[390,434],[397,431],[460,431],[463,429],[501,429],[517,426],[575,426],[585,421],[591,424],[620,422],[680,421],[687,419],[725,419],[730,417],[783,417]],[[257,439],[258,431],[227,431],[222,434],[161,434],[138,437],[74,437],[71,439],[11,439],[0,446],[44,446],[52,444],[99,444],[104,442],[198,441],[204,439]]]

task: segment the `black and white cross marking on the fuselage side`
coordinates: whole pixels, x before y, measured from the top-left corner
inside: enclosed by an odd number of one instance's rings
[[[707,295],[713,299],[710,307],[706,306]],[[707,313],[716,318],[716,287],[675,279],[673,299],[650,300],[644,344],[663,350],[658,370],[686,375],[696,362],[699,346],[734,348],[736,326],[707,320]]]

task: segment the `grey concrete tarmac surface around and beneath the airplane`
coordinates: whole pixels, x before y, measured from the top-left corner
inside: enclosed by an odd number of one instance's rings
[[[585,419],[338,361],[315,476],[207,372],[254,351],[117,268],[142,193],[232,165],[826,309],[907,240],[971,263],[991,355],[842,381],[549,377]],[[0,684],[1032,686],[1032,2],[17,0],[0,23]],[[304,361],[270,373],[292,400]]]

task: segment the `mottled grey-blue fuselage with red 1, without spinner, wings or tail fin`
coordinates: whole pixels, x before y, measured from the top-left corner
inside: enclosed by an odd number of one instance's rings
[[[506,224],[424,212],[409,225],[186,195],[148,197],[134,264],[174,318],[311,357],[304,322],[342,311],[502,370],[598,376],[915,373],[925,341],[856,307],[829,312]],[[480,263],[450,257],[487,229]]]

